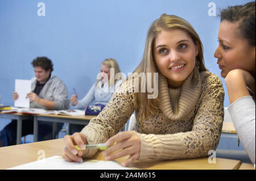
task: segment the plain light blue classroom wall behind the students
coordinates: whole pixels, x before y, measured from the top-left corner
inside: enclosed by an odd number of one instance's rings
[[[46,7],[45,16],[38,15],[39,2]],[[218,15],[228,5],[249,1],[0,0],[1,103],[13,106],[14,80],[34,77],[30,62],[37,56],[51,58],[53,74],[63,79],[69,97],[73,87],[80,98],[86,94],[105,58],[115,58],[128,75],[142,59],[150,24],[163,13],[181,16],[192,24],[204,45],[205,65],[220,77],[213,57],[220,19],[209,16],[210,2],[215,3]],[[226,91],[224,79],[222,82]],[[6,124],[0,120],[0,130]]]

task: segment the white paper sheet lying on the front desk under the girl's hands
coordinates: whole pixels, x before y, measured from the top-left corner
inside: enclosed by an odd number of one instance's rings
[[[115,161],[86,160],[82,163],[67,162],[60,156],[40,159],[35,162],[26,163],[12,167],[7,170],[127,170]]]

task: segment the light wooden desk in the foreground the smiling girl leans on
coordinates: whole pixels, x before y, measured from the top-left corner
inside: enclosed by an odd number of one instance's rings
[[[63,154],[63,138],[57,140],[33,142],[30,144],[6,146],[0,148],[0,169],[22,165],[36,161],[40,157],[39,150],[44,150],[46,158],[54,155]],[[119,163],[127,157],[116,159]],[[105,160],[102,152],[98,152],[92,159]],[[179,169],[202,169],[202,170],[221,170],[221,169],[238,169],[241,162],[232,159],[216,158],[216,163],[208,163],[208,158],[183,159],[176,161],[138,161],[131,165],[139,169],[162,169],[162,170],[179,170]]]

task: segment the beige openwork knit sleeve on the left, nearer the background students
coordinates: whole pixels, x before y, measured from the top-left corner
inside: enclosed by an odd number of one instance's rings
[[[82,129],[81,133],[85,135],[88,144],[106,142],[123,128],[134,112],[137,95],[127,91],[127,85],[124,82],[100,114]],[[90,149],[83,157],[90,158],[96,152],[97,149]]]

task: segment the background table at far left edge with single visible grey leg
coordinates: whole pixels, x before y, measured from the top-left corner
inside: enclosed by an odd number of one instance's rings
[[[0,118],[17,120],[16,144],[21,144],[22,120],[33,120],[33,116],[28,114],[23,114],[23,113],[1,113],[0,112]]]

